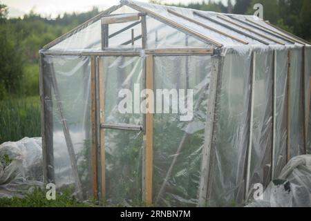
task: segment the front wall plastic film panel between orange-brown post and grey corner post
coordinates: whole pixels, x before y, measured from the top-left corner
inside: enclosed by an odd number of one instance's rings
[[[153,199],[158,206],[198,204],[210,72],[210,56],[154,58],[155,89],[194,90],[191,121],[181,121],[180,113],[153,115]]]

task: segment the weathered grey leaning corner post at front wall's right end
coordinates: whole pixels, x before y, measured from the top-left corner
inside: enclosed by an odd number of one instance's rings
[[[207,189],[210,175],[212,143],[214,135],[214,117],[216,109],[216,96],[218,81],[220,81],[220,57],[211,57],[211,77],[209,81],[209,99],[207,104],[206,126],[205,126],[205,141],[202,150],[202,161],[200,169],[200,183],[198,189],[198,206],[206,206],[207,204]]]

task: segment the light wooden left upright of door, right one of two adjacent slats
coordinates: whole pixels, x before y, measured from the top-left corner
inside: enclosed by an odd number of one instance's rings
[[[99,102],[100,102],[100,124],[105,122],[105,81],[104,81],[104,57],[98,59],[98,79],[99,79]],[[102,200],[106,200],[106,157],[105,157],[105,129],[100,128],[100,167],[102,178]]]

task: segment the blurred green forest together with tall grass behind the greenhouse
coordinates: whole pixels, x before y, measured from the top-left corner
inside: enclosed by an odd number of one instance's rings
[[[205,0],[174,6],[252,15],[255,3],[263,4],[265,20],[311,40],[310,0],[228,0],[227,6]],[[38,51],[98,12],[93,8],[56,19],[30,12],[23,18],[8,19],[8,8],[0,1],[0,144],[40,135]]]

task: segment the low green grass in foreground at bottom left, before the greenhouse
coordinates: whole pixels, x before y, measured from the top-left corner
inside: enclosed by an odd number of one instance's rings
[[[91,207],[91,204],[77,201],[70,191],[56,193],[55,200],[47,200],[46,192],[37,188],[24,198],[0,198],[0,207]]]

